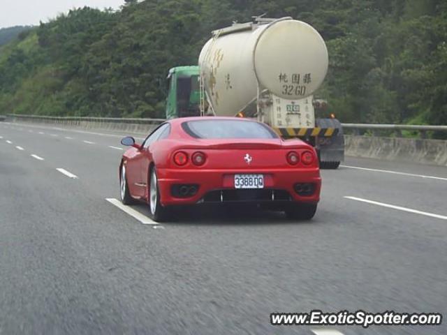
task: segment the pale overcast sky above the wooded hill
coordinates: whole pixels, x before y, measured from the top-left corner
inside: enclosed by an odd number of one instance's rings
[[[0,0],[0,28],[47,22],[72,8],[118,9],[124,0]]]

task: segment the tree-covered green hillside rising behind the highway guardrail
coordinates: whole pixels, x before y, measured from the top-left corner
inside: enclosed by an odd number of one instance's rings
[[[0,114],[162,117],[172,66],[210,31],[292,16],[328,44],[318,96],[345,122],[447,124],[443,0],[167,0],[73,10],[0,47]]]

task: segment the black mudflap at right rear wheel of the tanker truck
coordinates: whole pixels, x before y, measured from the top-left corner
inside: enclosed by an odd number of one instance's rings
[[[316,150],[320,158],[320,168],[337,169],[344,161],[343,128],[337,119],[316,119],[316,126],[321,128],[335,128],[334,135],[330,137],[317,137]]]

